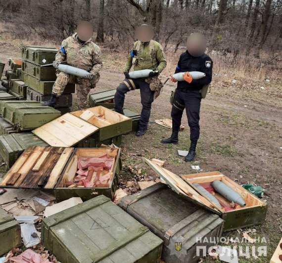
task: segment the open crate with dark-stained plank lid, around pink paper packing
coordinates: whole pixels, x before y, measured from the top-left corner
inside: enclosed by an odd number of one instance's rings
[[[104,154],[114,157],[111,170],[103,169],[101,172],[101,175],[109,173],[108,182],[93,187],[81,187],[75,183],[68,185],[76,175],[79,158]],[[81,197],[85,201],[101,194],[113,199],[120,171],[119,157],[119,148],[31,146],[3,177],[0,187],[54,189],[58,202],[71,197]]]

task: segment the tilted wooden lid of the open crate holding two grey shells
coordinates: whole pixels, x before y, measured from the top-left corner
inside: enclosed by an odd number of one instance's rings
[[[199,206],[208,209],[218,215],[222,213],[215,208],[206,198],[201,196],[195,191],[188,183],[186,183],[180,176],[173,174],[163,167],[151,162],[150,160],[142,157],[143,161],[150,166],[158,175],[160,175],[168,185],[178,194],[184,196],[189,201],[198,204]]]

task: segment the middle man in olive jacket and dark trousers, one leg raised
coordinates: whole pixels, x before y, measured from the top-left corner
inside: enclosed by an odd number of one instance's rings
[[[166,67],[166,58],[162,46],[153,41],[154,31],[148,25],[137,28],[135,35],[138,39],[133,44],[132,50],[124,68],[125,80],[117,87],[115,94],[115,111],[123,114],[125,94],[134,89],[140,89],[142,111],[139,121],[137,136],[144,135],[147,130],[151,105],[153,100],[160,94],[163,87],[158,75]],[[131,79],[129,71],[134,65],[134,71],[153,70],[148,78]]]

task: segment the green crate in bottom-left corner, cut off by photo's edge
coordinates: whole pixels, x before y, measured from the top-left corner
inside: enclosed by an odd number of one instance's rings
[[[22,242],[21,228],[17,221],[0,208],[0,256],[12,248],[19,247]]]

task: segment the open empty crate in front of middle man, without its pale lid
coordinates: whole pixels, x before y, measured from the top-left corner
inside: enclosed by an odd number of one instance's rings
[[[93,137],[99,141],[132,131],[132,119],[102,106],[71,112],[99,128]]]

